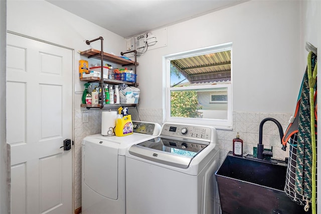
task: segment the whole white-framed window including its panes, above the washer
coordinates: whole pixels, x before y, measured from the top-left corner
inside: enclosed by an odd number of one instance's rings
[[[164,57],[166,121],[232,126],[232,43]]]

